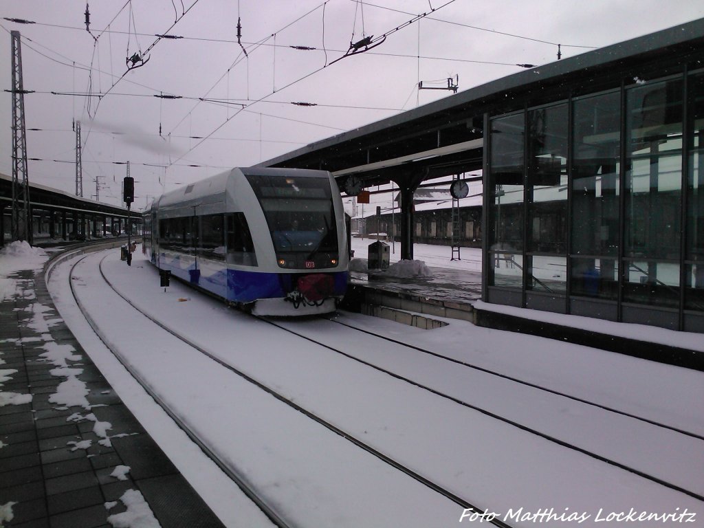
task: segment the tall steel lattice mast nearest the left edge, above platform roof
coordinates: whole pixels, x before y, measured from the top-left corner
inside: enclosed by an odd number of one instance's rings
[[[27,136],[25,131],[25,89],[22,82],[20,32],[12,39],[12,239],[32,244],[30,183],[27,177]]]

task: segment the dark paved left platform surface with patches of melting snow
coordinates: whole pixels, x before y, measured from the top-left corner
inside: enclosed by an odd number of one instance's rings
[[[32,401],[0,406],[0,504],[15,502],[13,520],[1,526],[112,528],[108,517],[126,510],[120,497],[137,489],[162,527],[221,527],[66,327],[46,291],[43,273],[18,272],[12,278],[17,280],[17,296],[0,301],[0,370],[7,378],[0,382],[0,391],[31,394]],[[35,303],[51,309],[37,310]],[[30,325],[41,317],[48,332],[44,325]],[[80,356],[67,363],[80,370],[76,377],[89,391],[91,408],[50,401],[66,377],[53,375],[58,365],[42,356],[47,341],[70,346]],[[108,436],[129,436],[100,444],[103,438],[94,432],[94,421],[67,420],[76,413],[93,413],[97,420],[110,422]],[[85,440],[91,441],[85,449],[70,444]],[[111,476],[118,465],[132,468],[124,481]],[[107,510],[108,501],[118,504]]]

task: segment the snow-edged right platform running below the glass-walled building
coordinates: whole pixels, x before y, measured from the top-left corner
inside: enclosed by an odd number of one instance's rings
[[[419,256],[422,260],[423,256]],[[436,256],[429,260],[437,262]],[[389,277],[380,270],[351,272],[345,307],[366,315],[426,329],[459,319],[482,327],[532,334],[643,358],[704,370],[700,334],[674,332],[562,315],[527,308],[483,303],[482,275],[476,270],[429,266],[427,277]]]

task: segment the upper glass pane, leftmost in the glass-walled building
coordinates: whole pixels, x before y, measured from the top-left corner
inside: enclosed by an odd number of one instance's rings
[[[491,120],[489,247],[523,249],[524,115]]]

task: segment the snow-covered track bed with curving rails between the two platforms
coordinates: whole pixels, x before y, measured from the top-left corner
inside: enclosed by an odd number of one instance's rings
[[[80,279],[74,281],[92,318],[210,451],[239,468],[292,525],[455,526],[460,519],[470,523],[468,516],[462,517],[467,504],[497,513],[496,521],[513,527],[534,526],[537,512],[551,508],[563,519],[576,515],[574,524],[583,514],[580,526],[616,526],[620,523],[615,517],[604,517],[630,508],[662,515],[694,512],[698,520],[704,518],[704,502],[696,497],[703,485],[703,444],[696,437],[703,430],[702,420],[691,406],[682,405],[698,401],[699,372],[593,351],[589,362],[599,359],[595,369],[605,372],[602,378],[627,361],[623,365],[635,365],[631,370],[644,380],[643,388],[634,379],[624,379],[627,370],[622,367],[616,370],[619,386],[603,382],[602,387],[596,378],[579,386],[576,378],[565,375],[560,362],[576,363],[584,375],[589,369],[577,361],[583,352],[521,337],[521,346],[539,347],[523,356],[555,367],[554,372],[542,372],[546,379],[552,375],[547,382],[539,375],[541,369],[531,371],[531,365],[516,360],[519,354],[498,361],[505,332],[489,333],[459,322],[425,331],[339,314],[354,327],[442,351],[506,376],[497,377],[327,320],[277,320],[286,327],[284,332],[178,282],[164,291],[158,287],[156,270],[140,256],[135,255],[128,268],[113,253],[103,260],[103,270],[120,295],[212,358],[156,327],[116,295],[100,275],[103,256],[86,258],[77,268]],[[291,329],[305,338],[292,335]],[[458,346],[448,336],[456,338]],[[491,353],[479,346],[487,337],[494,346]],[[441,350],[431,346],[434,339],[443,341]],[[551,346],[562,348],[550,356]],[[660,389],[653,379],[666,383]],[[624,413],[694,436],[546,392],[541,386],[584,401],[613,403]],[[603,390],[590,393],[589,386]],[[622,396],[610,394],[612,386]],[[271,391],[291,403],[284,404]],[[661,401],[665,391],[670,398]],[[629,397],[637,401],[629,402]],[[313,415],[319,420],[312,420]],[[341,434],[357,439],[367,451]],[[407,467],[459,501],[429,489],[382,458]]]

